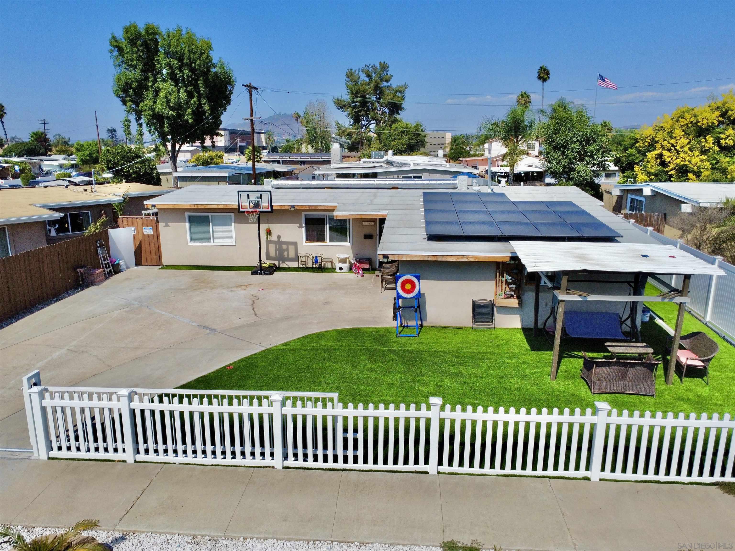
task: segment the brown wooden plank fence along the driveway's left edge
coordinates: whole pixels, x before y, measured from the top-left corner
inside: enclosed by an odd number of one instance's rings
[[[96,242],[107,229],[0,259],[0,321],[79,286],[80,266],[99,267]]]

